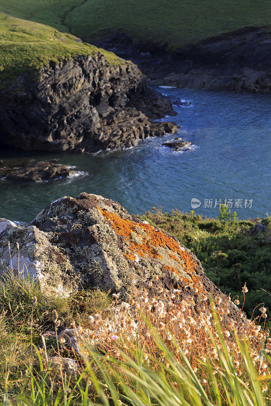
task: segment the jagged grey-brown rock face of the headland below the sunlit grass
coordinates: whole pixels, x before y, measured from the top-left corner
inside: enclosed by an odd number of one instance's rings
[[[0,145],[25,150],[127,148],[177,129],[148,120],[174,112],[136,65],[110,65],[102,55],[50,62],[35,77],[21,76],[1,91],[0,112]]]

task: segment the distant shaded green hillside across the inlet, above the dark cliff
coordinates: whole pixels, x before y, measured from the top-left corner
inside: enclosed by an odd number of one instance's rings
[[[176,49],[246,26],[271,25],[269,0],[2,0],[0,11],[89,42],[123,29]]]

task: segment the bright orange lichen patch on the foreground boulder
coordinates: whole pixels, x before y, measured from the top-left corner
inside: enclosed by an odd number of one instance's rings
[[[135,221],[122,219],[116,213],[108,212],[99,206],[97,206],[97,208],[103,217],[109,221],[113,230],[118,235],[122,236],[127,246],[126,251],[124,252],[126,258],[135,261],[137,256],[143,258],[148,256],[157,259],[162,259],[164,256],[166,259],[167,255],[168,260],[171,260],[171,262],[173,260],[184,268],[185,272],[191,277],[195,285],[199,283],[198,278],[194,275],[196,263],[192,256],[187,251],[182,250],[178,242],[170,235],[154,228],[150,224],[137,223]],[[140,238],[136,239],[135,235]],[[160,249],[163,249],[163,256],[160,253]],[[163,267],[171,274],[179,276],[177,268],[169,265],[163,265]],[[191,283],[191,281],[183,276],[182,279],[186,284]]]

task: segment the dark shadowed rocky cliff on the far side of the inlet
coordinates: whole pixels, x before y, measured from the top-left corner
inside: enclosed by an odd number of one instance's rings
[[[242,28],[174,52],[149,42],[135,43],[123,34],[99,44],[131,58],[153,86],[271,90],[271,33],[267,27]]]

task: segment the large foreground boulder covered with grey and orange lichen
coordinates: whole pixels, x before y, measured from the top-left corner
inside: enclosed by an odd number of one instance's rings
[[[121,292],[121,298],[136,289],[159,294],[149,284],[154,277],[183,296],[222,294],[175,238],[95,194],[59,198],[31,224],[1,219],[0,272],[7,267],[64,295],[89,287]]]

